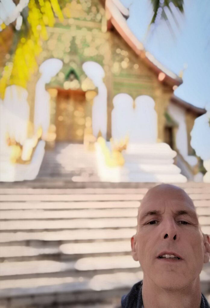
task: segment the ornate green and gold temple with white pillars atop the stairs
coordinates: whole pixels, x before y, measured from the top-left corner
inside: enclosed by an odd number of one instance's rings
[[[99,174],[103,173],[101,168],[106,168],[106,175],[111,172],[108,177],[101,176],[101,180],[111,181],[113,172],[133,174],[131,170],[137,166],[128,168],[132,155],[143,170],[142,175],[117,176],[114,181],[123,178],[122,181],[141,182],[148,173],[151,178],[146,176],[147,181],[202,180],[202,160],[195,156],[190,133],[195,119],[204,115],[205,109],[174,95],[182,83],[181,77],[144,49],[126,22],[129,10],[118,0],[93,0],[91,5],[72,1],[61,9],[64,20],[57,18],[53,27],[46,27],[48,40],[43,41],[38,58],[39,72],[28,83],[25,106],[29,111],[23,121],[31,126],[22,132],[27,136],[21,142],[12,140],[13,136],[9,145],[8,140],[3,142],[1,180],[35,178],[43,159],[43,147],[53,151],[60,142],[84,143],[87,151],[95,150]],[[49,71],[49,67],[51,73],[47,75],[44,71]],[[11,96],[11,101],[7,96],[1,102],[5,114],[13,103]],[[16,100],[20,99],[17,95]],[[9,125],[13,125],[11,120]],[[106,140],[104,147],[97,142],[98,137]],[[24,172],[16,169],[27,169],[32,161],[36,164],[36,148],[41,144],[36,170],[27,178],[19,176]],[[13,150],[8,150],[11,145]],[[13,155],[14,145],[15,151],[19,147],[19,156]],[[113,158],[113,151],[117,151],[117,158]],[[157,154],[151,156],[156,167],[145,160],[142,151],[146,156],[150,151]],[[105,152],[110,154],[109,159]],[[9,175],[6,166],[10,166]],[[164,170],[167,176],[160,176],[165,174]],[[174,174],[177,178],[173,179]]]

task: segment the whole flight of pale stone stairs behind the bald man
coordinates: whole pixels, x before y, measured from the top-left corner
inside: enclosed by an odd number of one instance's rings
[[[142,279],[130,255],[130,237],[151,184],[28,188],[32,183],[4,184],[0,190],[1,307],[120,307],[121,296]],[[209,184],[179,186],[210,234]],[[209,300],[209,264],[200,279]]]

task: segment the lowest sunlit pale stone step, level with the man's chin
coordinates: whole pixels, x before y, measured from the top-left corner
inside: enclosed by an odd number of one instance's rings
[[[25,279],[8,279],[1,283],[1,298],[13,298],[15,296],[27,295],[44,295],[67,293],[71,302],[72,294],[75,292],[102,290],[125,289],[133,286],[143,278],[142,271],[136,273],[127,273],[118,271],[114,274],[100,274],[93,275],[92,279],[85,277],[47,277],[42,278],[25,278]],[[99,292],[99,296],[100,296]]]

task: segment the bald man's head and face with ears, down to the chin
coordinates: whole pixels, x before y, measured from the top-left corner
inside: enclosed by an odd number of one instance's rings
[[[204,251],[195,207],[187,194],[172,185],[152,188],[139,208],[133,243],[133,257],[140,262],[144,279],[168,290],[183,288],[199,277],[207,262]],[[181,259],[159,258],[163,252],[174,252]]]

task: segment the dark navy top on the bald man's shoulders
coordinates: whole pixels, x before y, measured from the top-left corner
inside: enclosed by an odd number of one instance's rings
[[[137,282],[127,295],[121,299],[122,308],[143,308],[142,300],[143,280]],[[207,299],[201,294],[200,308],[209,308]]]

